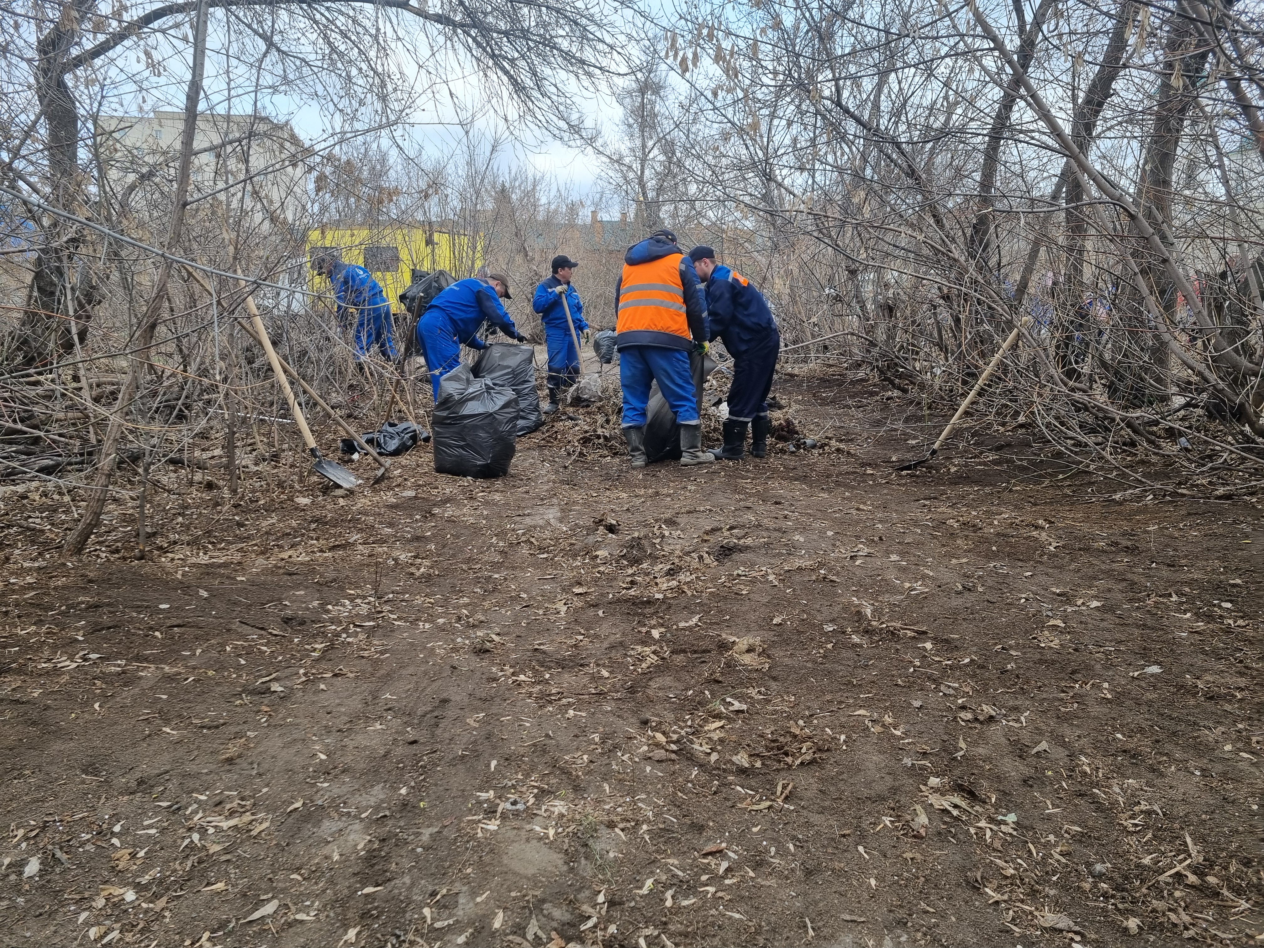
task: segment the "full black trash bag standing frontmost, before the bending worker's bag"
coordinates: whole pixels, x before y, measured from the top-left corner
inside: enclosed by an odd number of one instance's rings
[[[435,402],[435,470],[459,478],[509,473],[518,427],[518,397],[508,386],[474,378],[469,365],[449,372]]]

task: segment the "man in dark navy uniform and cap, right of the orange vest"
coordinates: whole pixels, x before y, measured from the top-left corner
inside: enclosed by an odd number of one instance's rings
[[[744,454],[751,428],[751,454],[769,450],[769,391],[781,351],[781,334],[763,295],[737,270],[715,260],[707,245],[689,252],[698,276],[707,281],[708,341],[719,339],[733,356],[733,383],[728,389],[724,446],[713,449],[717,460],[737,461]]]

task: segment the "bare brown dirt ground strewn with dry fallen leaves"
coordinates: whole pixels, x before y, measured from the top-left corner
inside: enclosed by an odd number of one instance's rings
[[[896,475],[916,406],[777,391],[822,447],[177,470],[144,561],[130,499],[66,564],[5,493],[3,942],[1264,938],[1258,502]]]

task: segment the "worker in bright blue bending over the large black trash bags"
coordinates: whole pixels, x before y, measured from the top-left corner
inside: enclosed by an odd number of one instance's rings
[[[485,349],[479,339],[485,324],[509,339],[525,343],[501,300],[511,300],[509,278],[503,273],[459,279],[430,301],[417,320],[417,345],[426,360],[439,401],[439,380],[461,364],[461,346]]]

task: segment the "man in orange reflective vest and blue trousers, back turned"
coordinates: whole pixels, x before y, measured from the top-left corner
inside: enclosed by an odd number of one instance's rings
[[[707,305],[693,260],[676,246],[670,230],[656,230],[624,254],[614,310],[623,437],[632,466],[646,465],[645,410],[653,382],[680,425],[680,463],[714,461],[703,450],[698,393],[689,368],[691,351],[707,351]]]

